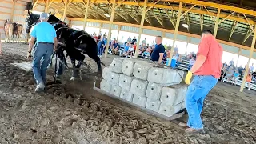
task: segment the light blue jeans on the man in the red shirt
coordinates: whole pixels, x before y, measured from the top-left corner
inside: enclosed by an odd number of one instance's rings
[[[201,112],[203,101],[210,90],[217,84],[218,79],[211,75],[195,76],[186,91],[186,110],[189,114],[187,126],[202,129]]]

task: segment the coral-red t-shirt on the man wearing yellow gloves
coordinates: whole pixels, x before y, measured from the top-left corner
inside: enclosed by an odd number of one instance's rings
[[[194,74],[212,75],[214,78],[220,78],[223,49],[214,36],[202,38],[197,56],[200,54],[206,57],[206,61]]]

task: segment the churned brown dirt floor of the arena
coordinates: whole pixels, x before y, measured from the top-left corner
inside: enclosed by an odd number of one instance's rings
[[[83,80],[70,82],[70,70],[61,84],[54,84],[48,71],[46,93],[34,93],[32,72],[11,66],[27,62],[25,44],[3,43],[0,55],[1,144],[172,144],[256,143],[256,92],[239,92],[238,86],[218,82],[205,101],[202,119],[206,134],[186,135],[178,122],[147,115],[124,102],[93,89],[102,77],[96,64],[86,58],[89,69]],[[113,57],[113,56],[112,56]],[[102,58],[110,64],[113,58]]]

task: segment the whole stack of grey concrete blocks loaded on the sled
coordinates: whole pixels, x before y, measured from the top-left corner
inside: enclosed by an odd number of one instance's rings
[[[114,58],[103,69],[101,89],[126,102],[170,117],[185,108],[184,72],[130,58]]]

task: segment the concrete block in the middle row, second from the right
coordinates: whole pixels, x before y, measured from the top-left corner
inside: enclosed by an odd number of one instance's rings
[[[159,100],[161,96],[162,86],[154,82],[149,82],[146,87],[146,97],[152,100]]]

